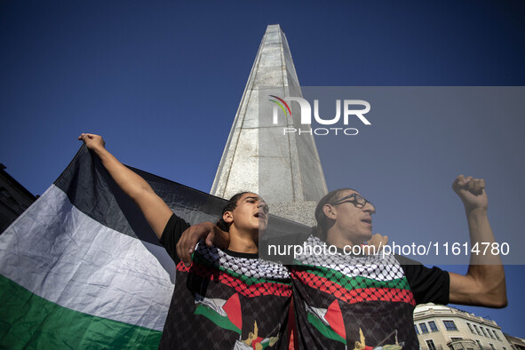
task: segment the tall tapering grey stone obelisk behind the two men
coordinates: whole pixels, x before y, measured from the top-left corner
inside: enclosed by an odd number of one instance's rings
[[[283,134],[283,126],[301,127],[298,106],[290,103],[292,118],[273,124],[269,95],[302,97],[286,36],[279,25],[265,36],[243,99],[235,115],[211,195],[229,198],[241,191],[261,195],[274,215],[314,225],[315,204],[327,187],[314,137],[307,132]]]

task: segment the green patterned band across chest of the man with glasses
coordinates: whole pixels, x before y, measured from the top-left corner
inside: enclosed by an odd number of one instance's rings
[[[293,266],[293,268],[295,270],[302,270],[308,274],[315,274],[319,277],[330,280],[331,282],[338,283],[347,290],[359,290],[362,288],[395,288],[399,290],[410,290],[409,282],[405,277],[394,278],[393,280],[389,281],[380,281],[362,276],[349,277],[339,271],[322,266],[301,265]]]

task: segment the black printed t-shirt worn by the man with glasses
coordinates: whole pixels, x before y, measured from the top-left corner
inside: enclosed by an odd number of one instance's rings
[[[310,236],[306,245],[322,241]],[[447,272],[394,256],[310,251],[297,257],[291,276],[301,349],[417,349],[414,306],[449,302]]]

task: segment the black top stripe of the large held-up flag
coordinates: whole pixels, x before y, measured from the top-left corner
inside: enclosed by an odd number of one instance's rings
[[[190,223],[215,221],[226,204],[224,199],[129,167],[147,180],[157,195],[180,218]],[[81,147],[68,168],[55,181],[69,201],[84,214],[125,235],[159,244],[155,233],[131,199],[116,186],[97,156]]]

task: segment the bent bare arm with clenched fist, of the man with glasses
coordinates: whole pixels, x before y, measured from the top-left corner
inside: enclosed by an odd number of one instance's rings
[[[478,243],[495,243],[487,217],[488,198],[485,180],[459,175],[452,188],[465,205],[471,247]],[[480,249],[481,253],[483,248]],[[498,254],[488,249],[471,254],[465,275],[450,274],[449,302],[462,305],[505,307],[507,305],[505,271]]]

